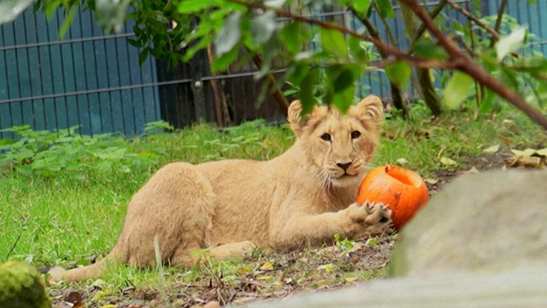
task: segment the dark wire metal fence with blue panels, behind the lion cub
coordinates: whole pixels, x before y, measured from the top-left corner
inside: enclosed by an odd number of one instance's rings
[[[456,0],[464,4],[467,0]],[[496,14],[501,0],[480,0],[482,14]],[[547,1],[537,5],[510,0],[506,13],[529,26],[539,42],[534,48],[545,53],[547,44]],[[396,2],[395,2],[396,3]],[[472,3],[472,2],[470,2]],[[429,6],[438,1],[427,1]],[[400,8],[389,25],[400,48],[408,42]],[[450,19],[465,17],[445,9]],[[350,12],[314,12],[315,18],[332,20],[364,31]],[[371,20],[387,38],[379,16]],[[149,58],[138,65],[139,50],[127,43],[133,36],[132,21],[119,35],[103,35],[88,10],[77,14],[67,37],[57,40],[61,13],[46,20],[27,10],[14,22],[0,26],[0,129],[29,124],[33,129],[56,130],[79,125],[80,133],[120,132],[134,135],[145,123],[165,119],[183,127],[203,118],[214,122],[211,82],[216,80],[229,106],[231,123],[255,118],[280,119],[277,103],[267,97],[259,108],[255,102],[261,81],[254,80],[257,67],[248,64],[238,71],[213,76],[203,50],[190,61],[172,70]],[[152,56],[150,56],[152,57]],[[196,83],[197,82],[197,83]],[[365,74],[358,95],[374,93],[390,99],[389,83],[382,72]],[[201,87],[196,87],[201,85]],[[0,132],[0,138],[8,133]]]

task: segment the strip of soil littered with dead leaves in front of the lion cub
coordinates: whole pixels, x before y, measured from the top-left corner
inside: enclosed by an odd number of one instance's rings
[[[106,292],[107,283],[95,287],[80,286],[65,291],[73,300],[83,297],[86,308],[112,305],[115,308],[217,307],[229,303],[243,304],[257,299],[283,298],[300,290],[330,290],[350,283],[383,276],[395,236],[353,241],[351,247],[327,246],[318,249],[255,255],[243,263],[200,269],[196,280],[183,280],[184,273],[167,276],[159,289],[137,286],[129,290]],[[228,269],[226,266],[232,266]],[[112,287],[112,286],[110,286]],[[104,289],[103,289],[104,288]],[[114,286],[114,289],[116,287]],[[102,292],[104,291],[104,292]],[[50,289],[54,307],[73,308],[63,299],[61,289]],[[101,293],[101,298],[96,297]],[[80,301],[82,303],[82,301]],[[108,306],[110,307],[110,306]]]

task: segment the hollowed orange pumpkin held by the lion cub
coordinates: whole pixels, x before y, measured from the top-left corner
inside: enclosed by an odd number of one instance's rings
[[[395,229],[400,229],[427,203],[426,183],[416,172],[399,166],[382,166],[369,172],[361,182],[357,204],[382,202],[392,210]]]

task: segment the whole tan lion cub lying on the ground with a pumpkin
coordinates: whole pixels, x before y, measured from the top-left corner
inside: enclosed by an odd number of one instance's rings
[[[162,261],[192,266],[198,256],[191,252],[202,248],[226,258],[254,245],[293,249],[330,242],[336,233],[353,238],[385,232],[385,207],[353,203],[377,143],[380,99],[368,96],[347,115],[327,106],[304,118],[300,111],[299,101],[289,107],[296,142],[270,161],[178,162],[158,170],[131,199],[108,256],[90,266],[52,270],[51,278],[96,278],[107,262],[153,265],[155,237]],[[356,139],[354,130],[361,133]],[[321,139],[324,133],[331,141]],[[336,165],[350,162],[347,174]]]

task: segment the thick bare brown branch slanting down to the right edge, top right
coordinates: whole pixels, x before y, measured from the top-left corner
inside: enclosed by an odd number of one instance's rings
[[[450,0],[449,0],[450,1]],[[452,58],[452,61],[456,61],[459,65],[458,70],[461,70],[468,75],[475,78],[481,84],[484,84],[486,87],[490,88],[496,92],[502,98],[508,100],[515,107],[522,110],[528,117],[530,117],[534,122],[538,123],[543,128],[547,129],[547,118],[542,115],[538,110],[536,110],[531,105],[521,98],[520,95],[511,91],[503,83],[499,82],[496,78],[490,75],[488,72],[483,70],[478,64],[476,64],[472,58],[465,54],[461,49],[458,48],[444,33],[435,25],[435,22],[429,17],[417,0],[399,0],[399,2],[408,6],[420,19],[426,24],[433,36],[437,38],[437,41],[446,49],[446,52]]]

